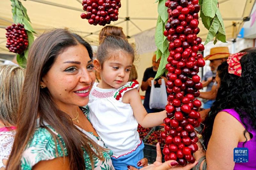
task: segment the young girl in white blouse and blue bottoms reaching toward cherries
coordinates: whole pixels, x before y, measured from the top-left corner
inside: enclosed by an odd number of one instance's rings
[[[101,82],[94,83],[89,100],[89,118],[99,136],[113,151],[117,170],[139,168],[144,144],[137,132],[138,123],[153,127],[163,123],[166,111],[147,114],[138,92],[139,85],[128,82],[134,50],[120,36],[107,35],[100,43],[94,66]]]

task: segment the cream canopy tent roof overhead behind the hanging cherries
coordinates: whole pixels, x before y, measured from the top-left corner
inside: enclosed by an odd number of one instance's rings
[[[81,19],[83,11],[81,0],[27,0],[21,1],[27,8],[32,27],[37,34],[35,38],[45,30],[59,27],[70,28],[83,38],[98,45],[98,33],[102,26],[93,26],[86,19]],[[119,9],[119,19],[111,22],[111,25],[123,27],[124,33],[134,38],[140,33],[151,33],[157,20],[157,3],[155,0],[122,0]],[[255,0],[219,0],[219,8],[224,20],[227,40],[236,38],[244,24],[244,17],[249,17]],[[12,7],[10,0],[0,1],[0,53],[13,54],[5,47],[5,27],[12,24]],[[204,40],[208,30],[200,23],[199,36]],[[147,32],[148,31],[148,32]],[[153,40],[151,40],[153,41]],[[148,43],[148,42],[145,42]]]

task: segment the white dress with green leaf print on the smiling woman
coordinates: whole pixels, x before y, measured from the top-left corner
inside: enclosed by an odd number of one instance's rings
[[[88,108],[82,107],[84,115],[88,118]],[[90,120],[89,120],[90,121]],[[22,170],[31,170],[36,163],[42,160],[51,160],[58,157],[68,156],[67,148],[65,147],[65,143],[63,138],[50,126],[46,125],[49,129],[52,130],[54,134],[59,137],[59,141],[56,140],[57,146],[55,145],[54,138],[52,134],[46,128],[37,128],[33,138],[29,141],[27,148],[23,152],[23,156],[21,158],[21,169]],[[94,141],[98,141],[98,144],[101,144],[102,147],[107,148],[100,137],[96,137],[92,135],[92,132],[85,132],[91,138],[94,138]],[[95,140],[96,138],[96,140]],[[61,144],[60,144],[61,143]],[[64,148],[64,153],[61,150],[61,145]],[[57,152],[56,152],[57,151]],[[112,165],[112,161],[110,157],[113,155],[111,150],[108,152],[102,153],[105,160],[101,161],[96,156],[93,156],[94,161],[94,169],[95,170],[114,170],[114,166]],[[92,169],[92,165],[89,159],[89,155],[84,150],[84,164],[86,169]]]

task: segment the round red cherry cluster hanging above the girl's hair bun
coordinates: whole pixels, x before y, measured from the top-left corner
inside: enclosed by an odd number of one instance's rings
[[[111,21],[117,21],[120,0],[83,0],[82,19],[88,19],[89,24],[105,26]]]

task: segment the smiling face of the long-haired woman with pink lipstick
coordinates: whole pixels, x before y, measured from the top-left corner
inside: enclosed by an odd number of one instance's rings
[[[95,82],[93,70],[87,49],[78,44],[57,56],[41,84],[48,88],[57,106],[85,106]]]

